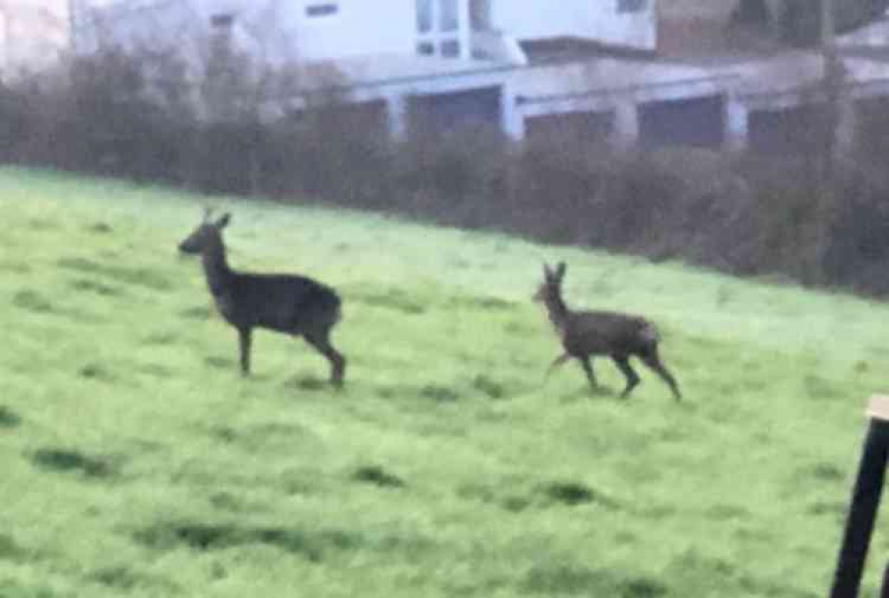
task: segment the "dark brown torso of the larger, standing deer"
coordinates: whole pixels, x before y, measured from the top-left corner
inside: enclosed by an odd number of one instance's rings
[[[214,299],[229,323],[292,334],[329,327],[340,310],[335,291],[300,275],[233,273],[228,289]]]

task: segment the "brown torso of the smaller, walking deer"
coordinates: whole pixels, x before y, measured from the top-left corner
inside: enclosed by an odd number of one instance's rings
[[[658,332],[653,323],[638,315],[581,311],[568,316],[562,340],[572,355],[630,355],[657,344]]]

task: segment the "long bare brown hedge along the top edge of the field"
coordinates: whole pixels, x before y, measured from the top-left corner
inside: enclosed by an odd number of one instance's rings
[[[443,130],[421,116],[391,141],[381,103],[354,103],[333,68],[209,50],[195,68],[175,52],[101,47],[0,87],[0,162],[324,201],[889,293],[882,105],[853,160],[825,176],[823,143],[768,158],[615,153],[582,136],[518,146],[492,127]]]

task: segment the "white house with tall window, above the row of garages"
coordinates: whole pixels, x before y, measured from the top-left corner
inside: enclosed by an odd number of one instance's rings
[[[573,37],[653,51],[656,0],[111,0],[94,11],[148,35],[150,13],[179,27],[232,24],[287,36],[301,60],[419,54],[525,60],[515,42]],[[132,21],[125,23],[125,21]],[[89,32],[86,33],[89,36]],[[107,31],[105,32],[108,33]],[[150,36],[164,36],[152,31]]]

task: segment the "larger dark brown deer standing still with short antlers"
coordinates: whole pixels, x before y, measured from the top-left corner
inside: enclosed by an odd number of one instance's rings
[[[306,276],[253,274],[228,267],[222,229],[231,219],[224,214],[215,222],[210,211],[191,235],[179,244],[183,253],[200,254],[213,301],[226,322],[237,329],[241,373],[250,373],[250,347],[254,328],[302,336],[331,364],[333,386],[341,387],[346,359],[331,345],[330,334],[340,321],[340,297],[324,284]]]

